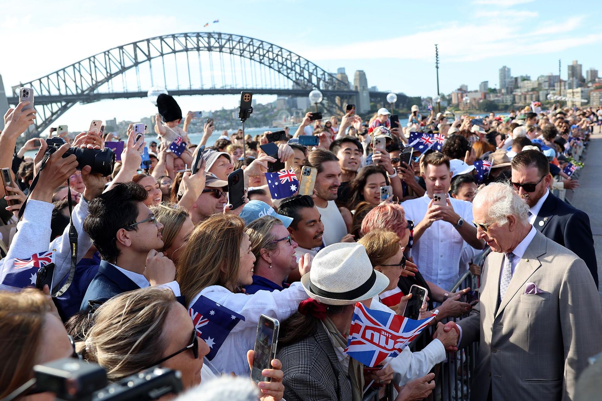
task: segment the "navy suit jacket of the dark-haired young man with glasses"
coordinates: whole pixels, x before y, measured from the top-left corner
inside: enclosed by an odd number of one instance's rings
[[[90,309],[89,300],[105,301],[116,295],[138,289],[140,287],[131,281],[128,276],[117,270],[112,264],[102,260],[101,265],[98,267],[98,273],[96,273],[96,276],[94,276],[88,289],[85,291],[79,310],[85,311]]]

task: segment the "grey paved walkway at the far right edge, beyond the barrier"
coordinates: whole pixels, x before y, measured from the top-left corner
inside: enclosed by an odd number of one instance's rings
[[[602,210],[600,208],[602,205],[602,186],[600,185],[602,132],[600,132],[600,126],[594,127],[594,135],[589,141],[583,163],[585,163],[585,167],[579,172],[579,188],[573,193],[568,191],[566,198],[574,207],[589,215],[598,260],[598,278],[602,278]],[[602,290],[600,290],[600,298],[602,299]]]

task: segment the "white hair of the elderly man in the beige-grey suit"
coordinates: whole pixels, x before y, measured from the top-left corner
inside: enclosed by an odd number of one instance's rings
[[[529,207],[509,182],[492,182],[475,192],[473,205],[486,205],[488,222],[503,226],[508,222],[506,216],[510,215],[524,222],[529,220]]]

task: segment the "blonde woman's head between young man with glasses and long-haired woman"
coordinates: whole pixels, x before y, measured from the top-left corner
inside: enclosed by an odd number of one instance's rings
[[[163,224],[163,231],[161,231],[163,248],[157,250],[176,263],[182,247],[188,240],[188,235],[194,229],[190,213],[173,203],[151,206],[151,211],[155,214],[155,219]]]

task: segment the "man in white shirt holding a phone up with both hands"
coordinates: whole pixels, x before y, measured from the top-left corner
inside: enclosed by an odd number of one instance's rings
[[[472,204],[448,196],[452,173],[447,156],[434,152],[426,155],[422,164],[426,193],[402,204],[406,218],[417,223],[411,255],[426,281],[448,291],[458,280],[465,244],[483,249],[485,242],[477,238],[477,229],[472,224]],[[447,197],[446,205],[433,204],[433,194]],[[434,295],[435,299],[444,296]]]

